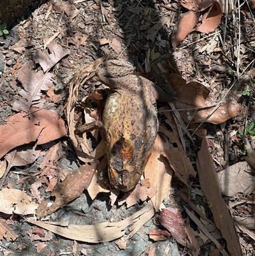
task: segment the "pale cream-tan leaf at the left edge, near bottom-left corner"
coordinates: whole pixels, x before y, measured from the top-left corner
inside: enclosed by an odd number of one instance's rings
[[[32,198],[29,195],[20,190],[3,188],[0,191],[0,198],[0,212],[6,215],[32,215],[38,207],[35,202],[31,202]]]

